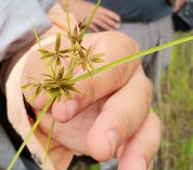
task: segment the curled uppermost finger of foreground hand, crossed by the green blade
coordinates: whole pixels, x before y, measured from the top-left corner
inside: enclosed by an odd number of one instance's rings
[[[104,51],[104,60],[106,63],[110,63],[112,58],[116,60],[129,53],[134,53],[138,49],[137,44],[123,34],[110,32],[108,35],[101,35],[103,36],[98,40],[93,53]],[[70,101],[55,101],[52,105],[53,117],[61,122],[72,119],[88,105],[124,86],[138,65],[138,60],[132,61],[77,82],[76,87],[80,90],[80,93],[75,93]]]

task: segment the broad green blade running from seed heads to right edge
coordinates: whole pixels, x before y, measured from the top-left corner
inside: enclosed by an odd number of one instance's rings
[[[171,41],[171,42],[168,42],[168,43],[165,43],[165,44],[160,44],[160,45],[152,48],[152,49],[143,50],[143,51],[137,53],[137,54],[127,55],[127,56],[125,56],[123,58],[119,58],[119,60],[116,60],[116,61],[114,61],[114,62],[112,62],[110,64],[106,64],[104,66],[95,68],[95,69],[91,70],[90,73],[82,74],[82,75],[74,78],[72,80],[72,82],[78,82],[80,80],[83,80],[83,79],[90,77],[90,75],[99,74],[99,73],[101,73],[101,71],[103,71],[105,69],[113,68],[115,66],[118,66],[118,65],[124,64],[126,62],[129,62],[131,60],[136,60],[136,58],[139,58],[141,56],[144,56],[144,55],[147,55],[147,54],[152,54],[152,53],[157,52],[159,50],[164,50],[166,48],[170,48],[170,47],[173,47],[173,45],[177,45],[177,44],[180,44],[180,43],[183,43],[183,42],[188,42],[188,41],[191,41],[191,40],[193,40],[193,36],[185,37],[185,38],[182,38],[182,39],[179,39],[179,40],[176,40],[176,41]]]

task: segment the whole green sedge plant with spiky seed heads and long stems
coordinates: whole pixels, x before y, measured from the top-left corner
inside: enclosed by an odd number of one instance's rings
[[[35,93],[28,99],[28,102],[30,103],[33,100],[35,100],[41,92],[44,92],[49,100],[46,104],[44,108],[41,110],[39,116],[37,117],[37,120],[35,121],[34,126],[31,127],[31,130],[28,132],[27,136],[24,139],[23,144],[18,148],[17,153],[15,154],[14,158],[12,159],[10,166],[8,167],[8,170],[11,170],[18,158],[20,154],[24,149],[26,143],[30,139],[30,135],[35,132],[37,129],[39,122],[42,120],[44,114],[50,108],[51,104],[57,100],[61,100],[62,95],[65,95],[67,99],[73,97],[73,92],[80,93],[80,91],[75,87],[75,84],[78,81],[81,81],[83,79],[89,78],[90,76],[93,76],[95,74],[99,74],[103,70],[111,69],[115,66],[121,65],[126,62],[129,62],[131,60],[140,58],[142,56],[152,54],[154,52],[157,52],[159,50],[164,50],[166,48],[170,48],[183,42],[188,42],[193,40],[193,36],[182,38],[176,41],[171,41],[152,49],[147,49],[144,51],[141,51],[139,53],[127,55],[123,58],[116,60],[112,63],[108,63],[106,65],[103,65],[101,67],[95,68],[95,63],[103,62],[102,56],[104,53],[92,53],[92,45],[90,45],[88,49],[82,47],[82,38],[85,34],[87,32],[90,23],[92,22],[92,18],[94,17],[94,14],[97,12],[98,6],[100,5],[101,0],[98,0],[98,3],[90,16],[90,18],[83,19],[79,22],[74,29],[70,28],[70,21],[69,21],[69,13],[67,8],[67,0],[65,0],[66,4],[66,13],[67,13],[67,24],[68,24],[68,38],[70,40],[70,48],[63,49],[61,45],[61,34],[56,34],[55,39],[55,48],[54,51],[49,51],[44,49],[38,38],[38,35],[34,28],[35,36],[37,39],[37,42],[39,43],[38,51],[40,52],[40,60],[43,60],[48,69],[48,73],[44,73],[42,76],[42,79],[35,79],[33,77],[29,77],[29,82],[27,84],[24,84],[22,88],[24,90],[28,88],[33,88]],[[67,67],[64,67],[62,65],[62,61],[66,62],[69,61],[69,65]],[[80,67],[85,73],[80,76],[74,75],[74,69],[77,67]],[[52,121],[51,130],[48,136],[48,142],[46,146],[46,156],[44,156],[44,166],[47,162],[48,152],[49,152],[49,145],[50,140],[52,136],[52,130],[54,128],[54,120]],[[44,167],[46,168],[46,167]]]

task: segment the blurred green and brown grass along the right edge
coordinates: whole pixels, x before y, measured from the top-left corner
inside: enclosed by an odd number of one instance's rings
[[[189,34],[177,34],[176,38]],[[193,170],[193,42],[173,48],[163,76],[159,170]]]

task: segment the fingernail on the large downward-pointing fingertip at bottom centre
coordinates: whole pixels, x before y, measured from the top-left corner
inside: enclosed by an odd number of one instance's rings
[[[110,130],[106,132],[106,138],[110,141],[111,144],[111,157],[114,156],[117,145],[118,145],[118,134],[114,130]]]

